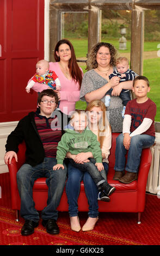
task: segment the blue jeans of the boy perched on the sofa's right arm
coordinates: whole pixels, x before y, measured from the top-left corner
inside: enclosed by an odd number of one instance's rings
[[[116,138],[116,148],[115,148],[115,166],[114,170],[138,173],[138,167],[140,164],[141,150],[144,148],[149,148],[153,145],[155,137],[150,135],[135,135],[131,137],[131,145],[128,150],[127,163],[125,168],[126,158],[125,155],[127,150],[123,144],[124,136],[122,133]]]

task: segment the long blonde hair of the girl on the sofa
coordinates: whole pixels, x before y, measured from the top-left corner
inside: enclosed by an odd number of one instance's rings
[[[85,112],[87,112],[87,111],[90,112],[91,109],[94,108],[94,107],[100,107],[101,111],[102,111],[102,118],[100,119],[99,124],[97,125],[97,127],[98,127],[97,140],[100,142],[100,147],[102,148],[103,141],[104,141],[104,138],[105,138],[105,131],[107,129],[111,130],[111,128],[110,128],[109,121],[108,121],[108,118],[107,118],[106,106],[104,105],[103,101],[101,101],[101,100],[91,101],[88,104],[87,108],[85,109]]]

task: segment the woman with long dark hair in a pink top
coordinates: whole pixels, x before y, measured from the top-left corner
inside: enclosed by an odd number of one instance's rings
[[[83,71],[77,64],[75,51],[69,40],[57,42],[54,58],[56,62],[50,62],[50,70],[57,74],[61,84],[61,90],[55,91],[60,100],[59,108],[61,112],[69,114],[75,110],[76,101],[79,100]],[[43,87],[40,86],[42,90]],[[39,83],[35,83],[33,89],[40,92]]]

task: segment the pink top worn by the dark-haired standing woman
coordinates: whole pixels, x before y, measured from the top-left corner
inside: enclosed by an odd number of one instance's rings
[[[61,90],[59,91],[59,108],[61,112],[69,114],[70,112],[75,110],[76,102],[79,100],[79,84],[65,77],[60,69],[58,62],[50,62],[50,70],[54,71],[57,74],[61,84]],[[41,84],[40,87],[41,88],[39,88],[39,83],[35,83],[32,89],[35,90],[35,92],[41,92],[42,90],[47,89],[46,85],[43,88]]]

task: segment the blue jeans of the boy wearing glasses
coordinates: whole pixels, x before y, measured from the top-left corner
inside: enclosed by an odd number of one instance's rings
[[[39,213],[35,209],[33,201],[32,188],[34,181],[41,177],[46,177],[48,186],[47,206],[42,210],[41,217],[43,220],[57,220],[57,207],[64,190],[67,169],[53,170],[57,160],[52,157],[45,157],[44,162],[35,167],[24,163],[17,172],[17,186],[21,197],[21,216],[25,220],[39,221]]]

